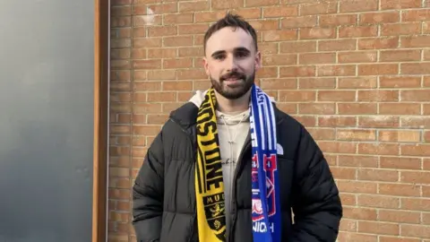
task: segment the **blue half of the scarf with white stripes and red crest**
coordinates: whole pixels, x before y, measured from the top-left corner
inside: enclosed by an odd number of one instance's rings
[[[276,120],[270,97],[254,84],[251,92],[252,219],[255,242],[280,242],[280,185]]]

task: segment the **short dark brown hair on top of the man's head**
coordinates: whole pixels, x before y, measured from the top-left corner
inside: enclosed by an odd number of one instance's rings
[[[251,26],[249,22],[246,22],[240,15],[233,13],[227,13],[226,16],[224,16],[218,22],[212,24],[209,30],[206,31],[203,39],[203,50],[206,50],[206,42],[209,38],[211,38],[212,34],[226,27],[232,27],[234,30],[236,30],[236,28],[241,28],[242,30],[247,31],[254,39],[255,50],[258,50],[257,33],[255,32],[253,26]]]

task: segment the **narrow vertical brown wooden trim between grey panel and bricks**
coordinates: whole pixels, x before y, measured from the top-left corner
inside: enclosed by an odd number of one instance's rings
[[[92,242],[107,241],[109,0],[94,0]]]

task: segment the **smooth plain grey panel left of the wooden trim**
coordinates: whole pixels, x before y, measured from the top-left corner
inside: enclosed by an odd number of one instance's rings
[[[94,1],[0,1],[0,242],[91,241]]]

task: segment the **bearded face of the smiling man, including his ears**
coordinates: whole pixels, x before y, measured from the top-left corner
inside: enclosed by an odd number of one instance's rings
[[[247,31],[226,27],[208,39],[203,64],[215,91],[227,99],[238,99],[254,84],[261,55]]]

